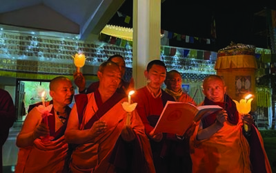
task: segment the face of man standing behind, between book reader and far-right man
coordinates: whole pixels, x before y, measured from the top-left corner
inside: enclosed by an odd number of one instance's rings
[[[174,92],[178,92],[181,90],[182,78],[179,73],[172,72],[167,76],[167,80],[165,81],[167,89],[170,89]]]

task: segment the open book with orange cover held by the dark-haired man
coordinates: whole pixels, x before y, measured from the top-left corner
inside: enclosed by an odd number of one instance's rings
[[[217,105],[196,107],[188,102],[168,101],[155,125],[154,134],[163,132],[182,136],[193,122],[222,109]]]

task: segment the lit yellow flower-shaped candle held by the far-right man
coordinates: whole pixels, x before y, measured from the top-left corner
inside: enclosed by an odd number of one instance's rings
[[[233,100],[237,105],[237,111],[242,114],[248,114],[251,110],[251,101],[253,100],[253,95],[248,94],[244,99],[239,100],[237,102],[236,100]],[[244,124],[244,130],[248,131],[248,125]]]

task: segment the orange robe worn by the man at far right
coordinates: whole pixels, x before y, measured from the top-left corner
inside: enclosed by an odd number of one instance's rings
[[[254,126],[252,126],[255,128]],[[190,156],[193,161],[193,172],[251,172],[250,146],[242,132],[242,120],[237,125],[224,122],[224,127],[208,139],[197,140],[197,125],[190,138]],[[264,150],[262,136],[257,131],[265,156],[266,172],[271,172]]]

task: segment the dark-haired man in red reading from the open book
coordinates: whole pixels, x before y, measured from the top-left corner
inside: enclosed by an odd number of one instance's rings
[[[161,89],[166,79],[166,65],[161,60],[152,60],[148,62],[144,75],[147,84],[136,91],[133,101],[137,102],[137,111],[150,138],[155,170],[158,173],[190,172],[190,161],[186,160],[186,142],[179,140],[176,134],[153,134],[166,102],[175,101],[172,95]]]

